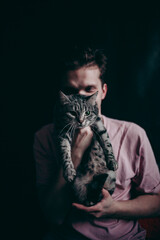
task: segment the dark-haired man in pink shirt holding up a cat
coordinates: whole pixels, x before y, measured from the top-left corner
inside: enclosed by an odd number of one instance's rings
[[[70,185],[63,178],[56,155],[54,124],[40,129],[34,142],[37,188],[42,209],[52,223],[51,239],[145,239],[137,219],[160,214],[160,174],[146,133],[134,123],[101,114],[107,93],[105,55],[93,49],[70,55],[61,65],[61,89],[66,94],[88,96],[98,91],[99,115],[118,161],[117,180],[113,195],[103,189],[98,204],[86,207],[72,203]],[[75,169],[92,136],[89,127],[76,133],[72,146]]]

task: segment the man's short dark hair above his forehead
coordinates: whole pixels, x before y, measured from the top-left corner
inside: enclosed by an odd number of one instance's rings
[[[66,76],[66,73],[71,70],[77,70],[81,67],[97,66],[100,70],[100,79],[102,84],[105,83],[107,58],[102,49],[92,47],[74,47],[66,51],[60,61],[60,77],[61,80]]]

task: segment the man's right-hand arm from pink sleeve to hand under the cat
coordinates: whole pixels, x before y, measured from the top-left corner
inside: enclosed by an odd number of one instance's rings
[[[103,189],[103,199],[92,207],[74,203],[73,206],[95,217],[109,218],[143,218],[160,216],[160,176],[149,140],[142,131],[143,143],[139,148],[139,165],[132,189],[141,195],[131,200],[113,200],[107,190]],[[138,135],[137,135],[138,136]],[[143,195],[142,195],[143,194]]]

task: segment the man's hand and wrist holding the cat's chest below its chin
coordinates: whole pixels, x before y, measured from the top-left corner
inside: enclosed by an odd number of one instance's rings
[[[90,127],[81,128],[75,132],[72,144],[72,161],[75,169],[81,162],[84,152],[90,146],[93,132]]]

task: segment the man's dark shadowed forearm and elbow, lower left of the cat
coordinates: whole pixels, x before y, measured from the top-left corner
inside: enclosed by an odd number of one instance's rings
[[[62,169],[58,170],[49,186],[38,186],[38,198],[46,219],[51,224],[63,223],[71,206],[70,188],[63,178]]]

